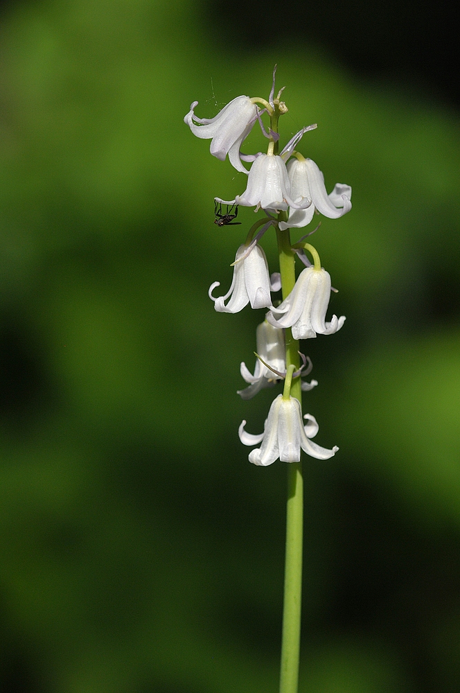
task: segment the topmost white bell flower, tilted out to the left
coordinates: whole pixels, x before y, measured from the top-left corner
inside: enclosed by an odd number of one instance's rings
[[[197,137],[212,140],[210,151],[214,157],[224,161],[228,154],[231,165],[247,174],[247,169],[240,161],[240,146],[256,122],[257,106],[249,96],[237,96],[214,118],[197,118],[194,112],[197,104],[197,101],[193,101],[184,123]]]

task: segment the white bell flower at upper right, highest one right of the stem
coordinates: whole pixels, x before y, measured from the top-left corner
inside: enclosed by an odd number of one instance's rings
[[[335,184],[328,195],[324,175],[312,159],[291,159],[288,163],[291,197],[294,200],[311,200],[310,207],[291,207],[287,222],[280,222],[280,229],[301,228],[310,223],[315,209],[330,219],[337,219],[351,210],[351,187],[344,183]]]

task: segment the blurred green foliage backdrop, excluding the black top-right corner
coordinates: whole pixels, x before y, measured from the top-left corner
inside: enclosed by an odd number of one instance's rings
[[[245,176],[182,120],[267,98],[274,62],[284,141],[318,123],[301,151],[353,186],[314,240],[347,320],[304,344],[340,452],[305,464],[299,690],[460,690],[457,114],[296,40],[295,13],[279,41],[224,10],[2,8],[0,690],[277,690],[285,465],[237,429],[278,390],[236,396],[263,311],[207,297],[254,212],[213,225]]]

